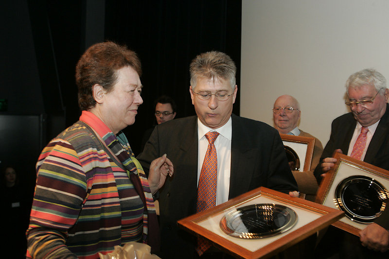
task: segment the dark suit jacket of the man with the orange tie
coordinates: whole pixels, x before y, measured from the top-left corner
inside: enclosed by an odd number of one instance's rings
[[[264,186],[288,192],[297,190],[283,143],[271,126],[235,115],[232,118],[229,198]],[[178,229],[177,221],[196,213],[197,117],[159,124],[138,156],[145,172],[155,158],[167,154],[174,176],[160,190],[162,258],[190,258],[195,253],[193,236]]]

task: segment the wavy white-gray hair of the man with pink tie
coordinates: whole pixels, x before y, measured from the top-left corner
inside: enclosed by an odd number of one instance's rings
[[[347,95],[349,88],[358,88],[363,85],[374,86],[377,91],[387,88],[385,77],[375,69],[363,69],[352,74],[346,81]],[[384,95],[382,93],[381,95]]]

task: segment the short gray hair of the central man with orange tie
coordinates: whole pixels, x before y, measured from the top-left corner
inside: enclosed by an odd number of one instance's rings
[[[190,73],[192,87],[196,86],[200,78],[210,79],[213,82],[222,78],[230,81],[231,88],[235,89],[236,66],[226,53],[212,51],[199,54],[191,62]]]

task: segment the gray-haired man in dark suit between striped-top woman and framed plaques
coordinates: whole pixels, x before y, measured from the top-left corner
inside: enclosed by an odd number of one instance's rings
[[[146,172],[158,154],[167,154],[174,164],[174,177],[159,196],[162,258],[198,257],[195,237],[180,230],[177,220],[197,212],[208,132],[219,134],[214,142],[216,205],[261,186],[298,195],[277,130],[231,114],[237,92],[231,58],[222,52],[200,54],[192,61],[190,72],[189,91],[197,116],[158,125],[138,157]]]

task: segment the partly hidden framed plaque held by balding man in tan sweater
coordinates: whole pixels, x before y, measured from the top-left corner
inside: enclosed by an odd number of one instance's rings
[[[309,171],[311,168],[315,138],[280,134],[283,140],[290,170]]]

